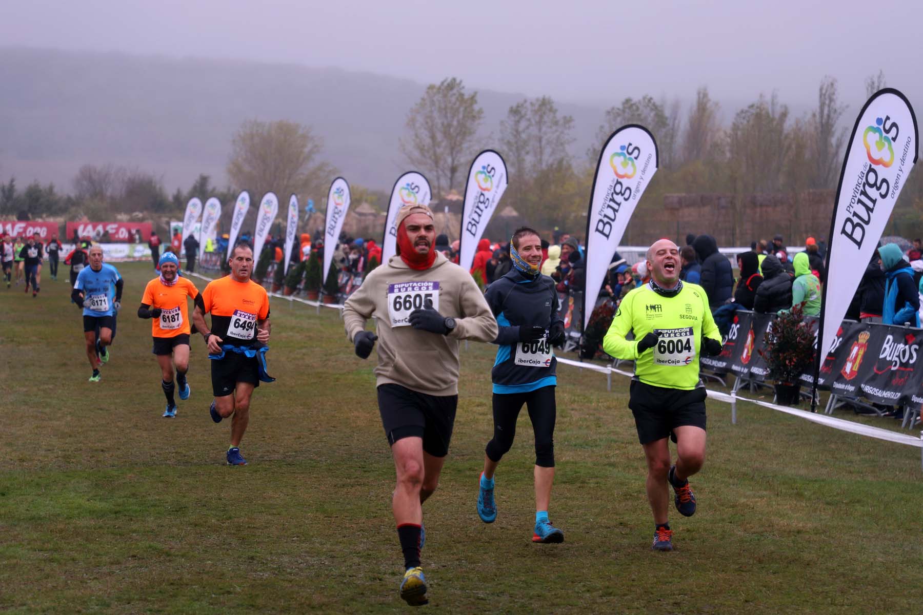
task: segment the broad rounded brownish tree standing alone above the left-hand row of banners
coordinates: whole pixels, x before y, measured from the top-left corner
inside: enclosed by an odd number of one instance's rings
[[[270,190],[282,199],[291,193],[325,194],[335,170],[319,160],[322,148],[322,139],[308,126],[248,120],[231,142],[228,177],[254,198]]]

